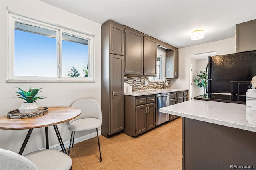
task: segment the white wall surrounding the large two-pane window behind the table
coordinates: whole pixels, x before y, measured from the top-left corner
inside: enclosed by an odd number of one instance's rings
[[[8,9],[33,19],[95,35],[95,83],[32,83],[32,87],[42,88],[43,92],[40,94],[47,97],[45,100],[38,100],[40,106],[70,106],[74,101],[82,98],[93,98],[100,103],[101,25],[38,0],[0,0],[0,116],[18,109],[23,102],[22,99],[13,98],[16,95],[13,92],[16,90],[15,87],[29,88],[28,83],[6,83],[8,51],[7,6]],[[69,140],[71,132],[68,131],[68,123],[62,123],[58,125],[58,128],[62,135],[62,140]],[[0,130],[0,148],[18,152],[27,132],[28,130]],[[76,137],[85,136],[92,132],[76,133]],[[49,144],[58,144],[53,127],[49,127]],[[24,154],[44,147],[44,128],[34,129]]]

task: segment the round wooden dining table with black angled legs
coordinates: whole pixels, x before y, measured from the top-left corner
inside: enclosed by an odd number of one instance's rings
[[[24,119],[9,119],[7,116],[0,117],[0,129],[4,130],[22,130],[29,129],[26,138],[20,148],[19,154],[22,155],[28,139],[34,128],[45,127],[46,149],[49,148],[48,126],[53,126],[57,138],[62,148],[62,152],[66,153],[57,124],[64,123],[75,119],[81,114],[81,110],[75,107],[48,107],[48,113],[38,117]]]

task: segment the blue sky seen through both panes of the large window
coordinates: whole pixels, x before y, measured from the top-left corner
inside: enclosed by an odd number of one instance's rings
[[[14,75],[57,77],[56,38],[15,30]],[[88,45],[62,41],[62,76],[74,66],[84,77],[88,64]]]

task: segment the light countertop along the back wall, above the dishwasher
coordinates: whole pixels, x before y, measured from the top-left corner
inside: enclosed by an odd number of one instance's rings
[[[124,93],[124,95],[129,96],[143,96],[143,95],[154,95],[160,93],[170,93],[178,91],[187,91],[188,89],[147,89],[147,90],[138,90],[132,91],[132,93]]]

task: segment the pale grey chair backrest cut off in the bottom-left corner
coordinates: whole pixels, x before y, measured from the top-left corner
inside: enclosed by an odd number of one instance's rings
[[[36,165],[15,152],[0,148],[1,170],[38,170]]]

